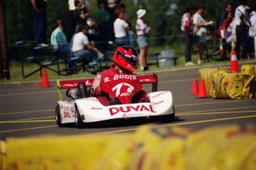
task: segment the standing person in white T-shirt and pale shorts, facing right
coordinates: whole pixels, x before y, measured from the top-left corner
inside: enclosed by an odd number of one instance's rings
[[[197,64],[203,63],[203,50],[206,44],[206,24],[208,23],[208,21],[205,21],[201,16],[205,10],[206,6],[204,4],[197,4],[197,11],[196,13],[194,13],[193,16],[194,33],[199,38]]]

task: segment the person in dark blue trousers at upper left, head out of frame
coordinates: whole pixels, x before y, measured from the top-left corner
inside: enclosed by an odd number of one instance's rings
[[[47,0],[30,0],[33,6],[33,33],[37,44],[47,44]]]

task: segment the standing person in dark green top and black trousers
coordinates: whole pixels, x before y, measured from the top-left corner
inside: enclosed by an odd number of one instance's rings
[[[108,46],[108,13],[105,10],[105,1],[98,1],[98,9],[96,10],[96,22],[99,29],[99,47],[105,49]]]

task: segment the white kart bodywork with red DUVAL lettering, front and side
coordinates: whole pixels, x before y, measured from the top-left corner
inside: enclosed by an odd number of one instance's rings
[[[174,102],[170,91],[148,93],[149,103],[131,103],[103,106],[97,98],[76,101],[58,101],[62,123],[75,122],[75,104],[84,123],[117,118],[136,118],[157,115],[173,115]]]

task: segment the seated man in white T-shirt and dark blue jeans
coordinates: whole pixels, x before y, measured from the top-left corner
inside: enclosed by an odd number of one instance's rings
[[[73,35],[73,54],[84,64],[91,61],[96,62],[99,50],[90,44],[88,37],[85,35],[88,33],[88,26],[86,24],[79,25],[78,31],[78,33]]]

